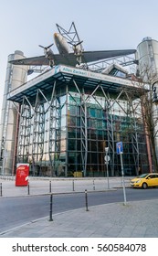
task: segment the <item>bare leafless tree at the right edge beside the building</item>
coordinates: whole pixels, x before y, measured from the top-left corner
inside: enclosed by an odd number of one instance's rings
[[[130,93],[128,91],[129,102],[132,105],[131,110],[137,120],[144,124],[144,133],[149,140],[152,152],[154,171],[158,171],[155,144],[155,136],[158,133],[158,112],[156,105],[153,103],[153,87],[156,80],[156,72],[148,67],[143,67],[139,77],[133,76],[132,78],[134,90]]]

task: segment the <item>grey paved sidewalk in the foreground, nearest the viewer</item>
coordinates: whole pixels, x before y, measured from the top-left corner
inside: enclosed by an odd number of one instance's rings
[[[0,234],[0,238],[158,238],[158,199],[100,205],[53,215]]]

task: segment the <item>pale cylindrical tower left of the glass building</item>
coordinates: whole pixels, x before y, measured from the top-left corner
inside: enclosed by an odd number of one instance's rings
[[[8,61],[24,58],[23,52],[16,50],[14,54],[8,56]],[[18,104],[15,105],[12,101],[7,101],[7,94],[26,82],[27,69],[27,66],[7,63],[0,123],[1,174],[3,175],[11,175],[14,172],[18,124]]]

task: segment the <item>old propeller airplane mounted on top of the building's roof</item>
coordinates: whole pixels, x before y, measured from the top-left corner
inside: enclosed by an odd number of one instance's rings
[[[59,32],[54,33],[54,42],[58,48],[58,54],[55,54],[52,51],[51,46],[53,44],[49,45],[48,47],[39,45],[39,47],[44,48],[45,55],[26,59],[15,59],[9,62],[14,65],[27,66],[44,65],[54,67],[58,64],[63,64],[76,67],[77,65],[80,66],[81,64],[87,64],[89,62],[99,61],[101,59],[111,59],[113,57],[121,57],[136,52],[135,49],[84,51],[81,45],[82,41],[79,40],[79,35],[74,22],[72,22],[72,25],[68,31],[62,27],[59,27],[58,24],[57,27]],[[72,32],[72,29],[74,29],[74,32]],[[76,37],[78,40],[75,40]]]

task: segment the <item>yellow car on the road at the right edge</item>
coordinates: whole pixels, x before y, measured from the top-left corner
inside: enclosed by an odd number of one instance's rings
[[[158,173],[142,174],[132,178],[130,183],[132,187],[142,187],[143,189],[158,187]]]

